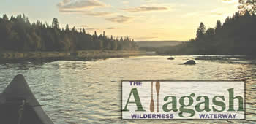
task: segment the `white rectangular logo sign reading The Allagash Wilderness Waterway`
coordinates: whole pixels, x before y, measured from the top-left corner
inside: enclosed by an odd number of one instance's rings
[[[244,81],[127,80],[121,83],[123,119],[245,120]]]

